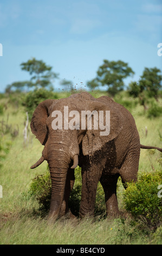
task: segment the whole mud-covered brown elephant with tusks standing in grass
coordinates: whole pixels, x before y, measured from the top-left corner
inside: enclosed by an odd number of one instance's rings
[[[67,108],[68,116],[65,115]],[[84,116],[85,121],[82,113],[87,111],[91,114]],[[101,124],[96,123],[96,114],[99,113],[103,121],[101,123],[100,120]],[[106,114],[109,114],[109,123]],[[89,117],[92,117],[91,126]],[[80,125],[81,122],[85,123]],[[103,127],[109,130],[107,135],[101,136]],[[68,208],[68,199],[77,166],[81,167],[82,175],[80,218],[94,216],[99,181],[105,192],[106,216],[109,218],[119,216],[116,197],[119,176],[125,188],[126,182],[137,181],[140,148],[154,148],[162,152],[161,148],[140,144],[135,120],[125,107],[111,97],[94,98],[88,92],[41,102],[33,113],[30,128],[44,145],[41,158],[30,168],[36,168],[44,160],[48,162],[51,178],[48,218],[54,221],[64,215],[74,217]]]

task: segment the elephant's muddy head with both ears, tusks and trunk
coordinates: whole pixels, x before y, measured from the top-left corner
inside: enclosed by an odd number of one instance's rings
[[[64,116],[64,106],[68,106],[69,111],[77,111],[79,118],[75,119],[76,129],[53,129],[54,111],[60,111]],[[101,129],[88,130],[81,129],[81,111],[110,111],[111,123],[108,136],[100,136]],[[72,112],[73,114],[73,112]],[[71,119],[70,119],[71,118]],[[103,118],[105,120],[105,116]],[[69,116],[72,120],[72,115]],[[64,124],[64,122],[63,122]],[[73,171],[78,165],[79,154],[93,155],[96,150],[100,150],[104,145],[118,136],[122,125],[118,112],[110,109],[108,105],[99,99],[95,99],[88,93],[74,94],[67,99],[45,100],[41,102],[31,119],[31,131],[36,138],[44,145],[42,156],[31,168],[37,167],[44,160],[48,161],[51,176],[51,202],[49,216],[57,218],[60,215],[64,197],[66,196],[67,173]],[[81,152],[79,151],[81,145]],[[74,171],[73,171],[74,172]]]

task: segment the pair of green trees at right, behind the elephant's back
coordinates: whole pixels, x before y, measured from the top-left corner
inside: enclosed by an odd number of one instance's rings
[[[146,109],[147,99],[154,98],[158,101],[161,94],[161,70],[156,67],[145,68],[138,82],[132,81],[126,86],[125,78],[133,75],[134,71],[127,63],[121,60],[118,62],[103,60],[96,77],[87,84],[91,88],[107,87],[107,92],[112,97],[126,88],[128,95],[137,98],[140,105]]]

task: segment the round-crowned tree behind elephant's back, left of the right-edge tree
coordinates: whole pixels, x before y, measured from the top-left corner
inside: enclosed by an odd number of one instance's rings
[[[133,75],[133,70],[127,63],[118,60],[118,62],[103,60],[103,65],[99,66],[97,76],[87,85],[91,87],[108,86],[108,93],[114,96],[124,89],[124,78]]]

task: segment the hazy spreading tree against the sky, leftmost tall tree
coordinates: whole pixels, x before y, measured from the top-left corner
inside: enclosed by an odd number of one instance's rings
[[[42,60],[35,58],[21,63],[21,69],[28,71],[31,77],[31,86],[35,88],[52,87],[52,80],[58,78],[58,74],[52,71],[52,67],[46,65]]]

